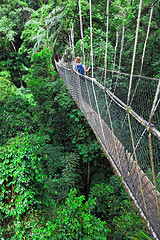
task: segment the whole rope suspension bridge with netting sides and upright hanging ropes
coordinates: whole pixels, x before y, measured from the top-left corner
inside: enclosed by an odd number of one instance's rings
[[[106,11],[104,68],[94,67],[93,63],[91,0],[91,76],[75,72],[73,62],[66,61],[65,58],[56,62],[56,67],[70,94],[103,146],[127,192],[146,220],[153,238],[160,239],[160,79],[142,75],[154,5],[152,4],[150,8],[139,74],[134,74],[134,68],[137,64],[136,50],[142,0],[139,3],[130,73],[121,71],[125,27],[117,31],[113,68],[107,69],[109,0]],[[80,0],[79,12],[83,40]],[[120,32],[122,33],[121,46],[120,53],[117,54]],[[71,47],[74,56],[73,38],[72,31]],[[83,44],[82,52],[84,54]],[[117,55],[119,56],[118,64],[116,64]],[[118,69],[116,69],[116,65]]]

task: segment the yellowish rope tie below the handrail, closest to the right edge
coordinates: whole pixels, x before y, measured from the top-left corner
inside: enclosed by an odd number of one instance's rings
[[[150,160],[151,160],[151,167],[152,167],[152,174],[153,174],[153,184],[154,184],[155,192],[156,192],[155,198],[156,198],[158,215],[160,218],[160,206],[159,206],[159,202],[158,202],[157,185],[156,185],[156,177],[155,177],[154,162],[153,162],[152,133],[150,131],[149,131],[149,152],[150,152]]]

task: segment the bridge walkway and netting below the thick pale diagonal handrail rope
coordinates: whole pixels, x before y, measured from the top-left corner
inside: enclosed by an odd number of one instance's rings
[[[95,78],[81,75],[63,66],[63,62],[56,63],[56,66],[70,94],[104,147],[111,164],[123,178],[127,191],[143,212],[154,239],[158,239],[160,186],[157,179],[160,169],[155,152],[158,150],[160,132]],[[112,105],[109,108],[111,100]],[[126,114],[129,116],[128,121],[122,128],[121,119]],[[152,145],[149,144],[150,135]]]

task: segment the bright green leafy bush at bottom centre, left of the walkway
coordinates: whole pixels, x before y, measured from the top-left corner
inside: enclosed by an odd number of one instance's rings
[[[109,229],[106,223],[90,213],[95,200],[90,199],[83,204],[84,196],[76,197],[76,193],[75,189],[71,190],[66,206],[58,210],[54,224],[55,239],[107,239]]]

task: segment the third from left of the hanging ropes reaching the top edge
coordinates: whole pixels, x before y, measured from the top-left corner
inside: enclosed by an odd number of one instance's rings
[[[106,26],[106,52],[105,52],[105,59],[104,59],[104,87],[106,87],[106,77],[107,77],[107,52],[108,52],[108,25],[109,25],[109,0],[107,0],[107,7],[106,7],[106,15],[107,15],[107,26]]]

